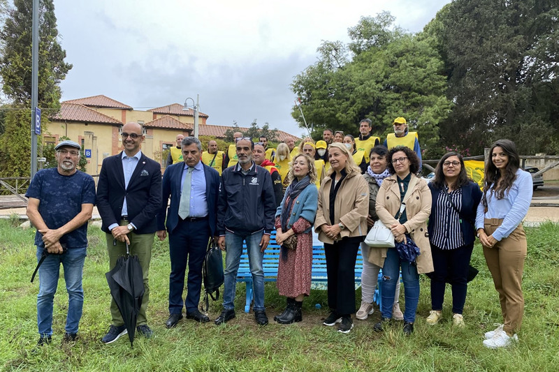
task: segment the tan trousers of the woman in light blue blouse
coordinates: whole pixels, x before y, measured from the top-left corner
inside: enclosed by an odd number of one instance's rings
[[[501,225],[502,218],[486,218],[484,230],[493,234]],[[524,296],[522,293],[522,273],[528,246],[522,224],[511,234],[498,241],[493,248],[484,246],[487,267],[493,276],[495,290],[499,292],[503,330],[512,335],[522,325],[524,313]]]

